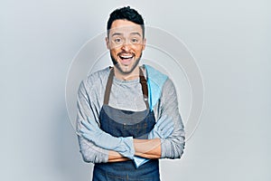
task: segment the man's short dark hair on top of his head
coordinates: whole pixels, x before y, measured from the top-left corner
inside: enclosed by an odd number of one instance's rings
[[[107,36],[109,35],[109,30],[115,20],[127,20],[141,25],[143,37],[145,36],[144,20],[141,14],[138,14],[138,12],[135,11],[135,9],[130,8],[130,6],[118,8],[110,14],[107,21]]]

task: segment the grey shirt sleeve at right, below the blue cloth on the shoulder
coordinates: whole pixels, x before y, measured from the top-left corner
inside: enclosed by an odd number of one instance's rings
[[[164,82],[162,96],[158,109],[158,118],[167,115],[173,118],[174,129],[170,137],[161,139],[162,158],[180,158],[185,145],[185,134],[182,118],[179,112],[178,99],[173,81],[167,79]],[[156,117],[157,118],[157,117]]]

